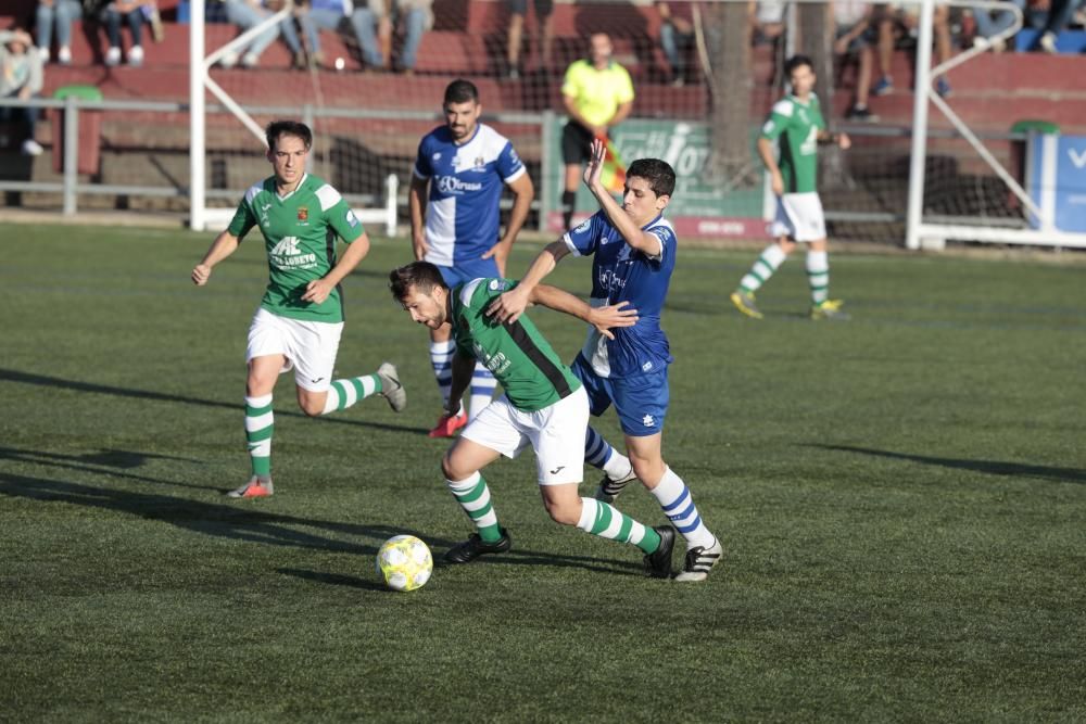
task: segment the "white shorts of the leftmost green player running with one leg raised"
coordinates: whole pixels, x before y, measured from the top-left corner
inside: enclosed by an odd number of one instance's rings
[[[256,309],[249,326],[245,363],[254,357],[283,355],[279,373],[294,368],[294,382],[310,392],[326,392],[331,386],[336,353],[343,333],[343,322],[303,321]]]

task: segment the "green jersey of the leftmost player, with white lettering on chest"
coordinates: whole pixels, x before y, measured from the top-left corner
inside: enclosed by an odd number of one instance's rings
[[[351,243],[364,232],[339,191],[306,174],[298,188],[280,198],[275,177],[266,178],[245,192],[227,230],[241,239],[254,226],[260,226],[268,254],[268,287],[261,306],[291,319],[343,321],[339,285],[320,304],[302,301],[306,284],[336,266],[336,237]]]

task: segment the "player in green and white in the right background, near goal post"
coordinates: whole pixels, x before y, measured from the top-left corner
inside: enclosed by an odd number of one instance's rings
[[[748,317],[761,319],[754,294],[796,247],[806,243],[807,281],[811,290],[811,319],[848,319],[839,300],[830,299],[830,256],[825,239],[825,216],[816,190],[818,144],[836,143],[848,149],[847,134],[830,134],[822,118],[815,89],[815,67],[806,55],[794,55],[784,65],[792,93],[773,105],[758,137],[758,154],[769,170],[776,194],[776,218],[772,233],[776,241],[766,247],[750,271],[732,292],[732,304]],[[773,144],[780,147],[780,161]]]

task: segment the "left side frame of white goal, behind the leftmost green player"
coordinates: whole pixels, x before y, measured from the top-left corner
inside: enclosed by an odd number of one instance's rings
[[[195,231],[224,229],[233,217],[233,208],[212,208],[207,206],[206,149],[207,149],[207,105],[205,93],[211,91],[219,102],[254,136],[256,142],[267,148],[264,129],[229,93],[211,78],[211,67],[226,53],[241,48],[266,28],[279,23],[292,11],[292,2],[282,10],[245,30],[222,48],[206,53],[204,36],[206,2],[191,0],[189,17],[189,228]],[[355,216],[363,224],[379,224],[389,237],[395,236],[397,224],[396,199],[399,179],[390,174],[384,180],[384,203],[378,208],[354,208]]]

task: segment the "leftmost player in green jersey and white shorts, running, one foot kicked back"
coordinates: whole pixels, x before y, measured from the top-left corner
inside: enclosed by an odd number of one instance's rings
[[[369,237],[331,186],[305,173],[313,134],[304,124],[276,120],[267,129],[273,175],[245,192],[233,220],[192,269],[202,287],[216,264],[260,227],[268,255],[268,285],[249,328],[245,359],[245,437],[252,477],[228,495],[266,497],[272,484],[272,391],[282,372],[294,369],[298,404],[306,415],[334,412],[372,394],[395,411],[407,404],[396,368],[332,380],[343,331],[340,281],[369,251]],[[348,243],[337,262],[336,238]]]

